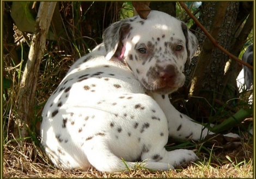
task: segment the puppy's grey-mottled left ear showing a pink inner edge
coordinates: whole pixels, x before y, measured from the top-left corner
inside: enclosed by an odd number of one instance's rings
[[[123,53],[124,44],[122,41],[126,38],[131,30],[128,20],[122,20],[110,25],[103,32],[103,43],[106,48],[106,60],[110,60],[113,56],[120,58]]]

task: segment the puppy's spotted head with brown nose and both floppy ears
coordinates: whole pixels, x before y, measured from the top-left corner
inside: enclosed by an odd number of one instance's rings
[[[184,65],[197,49],[197,39],[176,18],[151,11],[116,22],[103,33],[106,60],[124,60],[149,91],[172,93],[185,82]]]

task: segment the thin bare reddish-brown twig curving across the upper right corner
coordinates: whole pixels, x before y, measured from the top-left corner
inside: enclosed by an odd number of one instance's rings
[[[214,37],[211,36],[211,34],[203,27],[203,25],[197,20],[196,17],[194,17],[194,15],[192,14],[192,12],[186,7],[186,5],[184,4],[184,2],[180,2],[181,7],[187,12],[187,14],[193,19],[193,21],[198,25],[198,27],[205,33],[205,35],[211,40],[211,42],[214,44],[215,47],[219,48],[220,50],[222,50],[222,52],[224,52],[225,54],[227,54],[229,57],[231,57],[231,59],[236,60],[239,63],[242,63],[242,65],[247,66],[248,68],[253,69],[253,66],[249,65],[248,63],[240,60],[239,58],[237,58],[235,55],[231,54],[228,52],[228,50],[224,49],[222,46],[220,46],[220,44],[218,44],[218,42],[214,39]]]

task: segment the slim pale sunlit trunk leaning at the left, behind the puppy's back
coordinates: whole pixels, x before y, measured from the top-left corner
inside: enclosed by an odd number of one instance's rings
[[[22,75],[19,95],[19,116],[16,119],[14,136],[22,140],[28,136],[27,128],[34,118],[35,91],[38,80],[39,65],[44,55],[46,37],[50,27],[56,2],[41,2],[35,22],[35,32],[32,37],[28,61]]]

